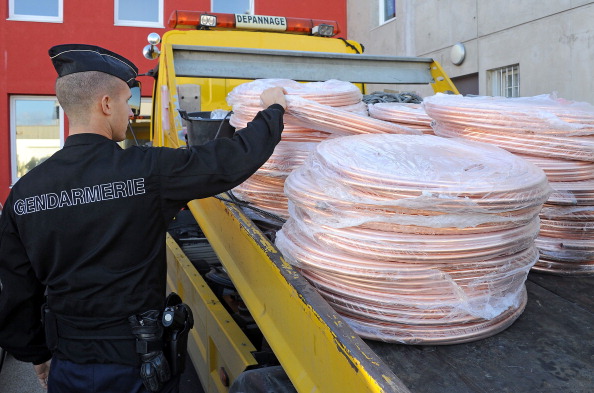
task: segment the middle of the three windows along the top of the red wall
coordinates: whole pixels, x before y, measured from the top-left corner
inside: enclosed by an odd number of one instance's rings
[[[163,0],[115,0],[116,26],[163,26]]]

